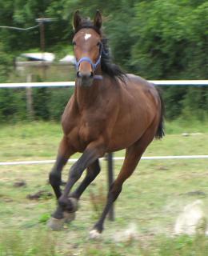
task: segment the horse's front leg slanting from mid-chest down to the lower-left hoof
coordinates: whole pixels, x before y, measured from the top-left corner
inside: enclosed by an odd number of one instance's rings
[[[64,223],[64,218],[66,213],[71,213],[77,210],[77,200],[75,198],[69,198],[70,190],[74,186],[74,183],[82,176],[83,171],[91,166],[98,158],[101,158],[106,152],[106,146],[102,140],[91,142],[86,150],[83,152],[81,158],[78,159],[78,162],[75,162],[70,168],[69,178],[66,183],[65,190],[63,191],[60,198],[58,198],[58,207],[53,214],[53,222],[50,222],[50,227],[58,226],[58,229],[61,228]],[[94,177],[95,178],[95,177]],[[88,183],[88,182],[87,182]],[[90,184],[90,183],[89,183]],[[79,188],[77,191],[79,195],[82,194],[83,190],[87,185],[85,184]],[[72,194],[73,196],[73,194]],[[58,224],[59,222],[59,224]]]

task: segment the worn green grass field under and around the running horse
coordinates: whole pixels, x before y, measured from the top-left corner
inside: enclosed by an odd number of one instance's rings
[[[168,123],[166,130],[166,137],[154,141],[146,156],[207,154],[206,124]],[[202,134],[184,137],[183,132]],[[52,122],[2,126],[0,162],[54,159],[61,137],[61,127]],[[122,162],[114,162],[115,175],[121,166]],[[202,199],[207,215],[207,166],[207,159],[142,160],[123,186],[115,222],[106,221],[100,241],[90,241],[88,232],[105,203],[106,162],[83,194],[76,220],[59,232],[46,227],[54,196],[27,197],[40,190],[52,192],[47,182],[51,165],[0,166],[0,256],[207,255],[208,238],[173,236],[174,222],[186,204]],[[70,164],[63,172],[65,180],[69,168]],[[22,180],[26,186],[14,186]],[[135,237],[122,241],[121,234],[128,229],[136,230]]]

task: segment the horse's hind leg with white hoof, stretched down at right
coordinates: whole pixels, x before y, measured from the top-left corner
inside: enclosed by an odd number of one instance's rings
[[[115,179],[113,184],[110,186],[110,190],[107,196],[106,206],[102,212],[101,218],[94,225],[93,230],[90,231],[90,238],[98,238],[99,234],[102,233],[103,223],[105,221],[106,215],[108,214],[110,207],[113,202],[118,198],[118,195],[122,191],[122,184],[126,181],[127,178],[134,172],[136,166],[142,154],[146,150],[146,147],[154,138],[156,130],[153,125],[150,126],[145,134],[142,135],[142,138],[135,142],[134,145],[126,149],[125,160],[122,165],[122,170],[118,174],[118,177]]]

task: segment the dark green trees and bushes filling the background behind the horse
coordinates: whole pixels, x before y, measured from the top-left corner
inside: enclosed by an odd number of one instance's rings
[[[58,18],[46,23],[46,50],[62,58],[72,52],[72,17],[77,9],[90,18],[97,9],[102,10],[103,30],[109,38],[114,62],[126,72],[153,80],[208,78],[206,0],[6,0],[0,2],[0,25],[28,27],[34,26],[35,18],[41,16]],[[39,49],[40,35],[38,29],[0,32],[0,82],[5,82],[11,79],[14,57],[22,51]],[[194,115],[199,120],[206,119],[206,88],[170,86],[164,89],[163,96],[167,118],[188,119]],[[7,95],[0,90],[0,120],[26,117],[22,93],[15,91],[8,93],[9,98],[3,97]],[[36,118],[59,119],[63,102],[66,98],[62,90],[34,90]]]

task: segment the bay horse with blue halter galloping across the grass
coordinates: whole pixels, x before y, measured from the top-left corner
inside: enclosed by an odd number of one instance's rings
[[[78,200],[100,172],[98,158],[126,149],[118,177],[110,186],[106,206],[90,238],[97,238],[122,184],[134,172],[146,147],[162,138],[164,107],[156,87],[134,74],[125,74],[111,62],[106,38],[102,35],[102,15],[94,22],[74,13],[74,56],[77,78],[74,94],[62,114],[63,137],[50,172],[50,184],[58,200],[48,225],[54,230],[74,219]],[[70,168],[65,189],[61,190],[62,168],[72,154],[82,156]],[[73,192],[74,183],[86,170],[86,177]]]

